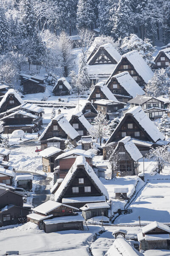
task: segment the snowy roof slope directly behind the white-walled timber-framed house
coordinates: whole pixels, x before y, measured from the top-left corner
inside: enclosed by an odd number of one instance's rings
[[[130,76],[129,72],[125,71],[114,75],[118,83],[131,95],[133,98],[137,95],[143,95],[144,90],[136,83],[136,81]]]

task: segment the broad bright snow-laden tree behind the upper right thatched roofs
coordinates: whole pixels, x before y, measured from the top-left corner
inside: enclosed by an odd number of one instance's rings
[[[122,39],[121,45],[122,54],[137,50],[144,58],[147,64],[153,64],[153,53],[156,51],[155,47],[150,42],[150,39],[145,38],[144,41],[135,34],[130,34]]]

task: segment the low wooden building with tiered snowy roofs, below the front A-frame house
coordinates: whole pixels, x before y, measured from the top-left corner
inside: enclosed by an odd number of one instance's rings
[[[76,213],[79,209],[54,201],[46,201],[27,215],[28,221],[38,224],[45,233],[63,230],[83,230],[84,219]]]

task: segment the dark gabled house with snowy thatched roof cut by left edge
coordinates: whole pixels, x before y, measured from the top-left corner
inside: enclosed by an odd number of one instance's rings
[[[19,94],[14,89],[9,89],[0,101],[0,113],[24,104]]]

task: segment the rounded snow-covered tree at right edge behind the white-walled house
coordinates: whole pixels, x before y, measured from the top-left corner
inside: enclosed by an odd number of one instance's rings
[[[152,79],[145,86],[145,91],[149,96],[158,97],[168,93],[170,79],[167,76],[166,70],[163,68],[156,70]]]

